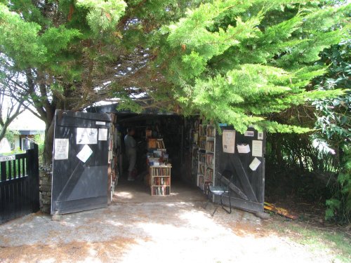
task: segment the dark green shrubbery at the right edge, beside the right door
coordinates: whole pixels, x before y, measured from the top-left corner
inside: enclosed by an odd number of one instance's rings
[[[326,219],[339,224],[350,223],[351,208],[350,47],[349,39],[323,50],[317,65],[328,65],[328,68],[310,85],[322,95],[335,90],[342,93],[310,97],[310,105],[296,109],[295,115],[303,119],[299,123],[314,126],[314,133],[267,136],[267,169],[274,171],[267,174],[267,188],[282,189],[282,184],[287,182],[287,188],[296,191],[299,197],[325,204]],[[288,112],[282,118],[292,115]],[[307,115],[305,119],[304,115]],[[270,185],[278,177],[289,180]],[[311,182],[306,182],[307,178]]]

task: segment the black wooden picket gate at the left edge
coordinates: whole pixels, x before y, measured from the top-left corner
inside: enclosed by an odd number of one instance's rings
[[[38,146],[0,157],[0,224],[39,210]]]

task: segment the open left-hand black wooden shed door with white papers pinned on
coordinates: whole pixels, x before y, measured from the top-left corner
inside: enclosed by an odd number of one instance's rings
[[[109,114],[56,111],[51,214],[107,206],[110,123]]]

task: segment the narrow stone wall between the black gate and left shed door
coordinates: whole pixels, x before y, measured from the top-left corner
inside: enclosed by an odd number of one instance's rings
[[[42,213],[51,211],[52,166],[39,167],[39,201]]]

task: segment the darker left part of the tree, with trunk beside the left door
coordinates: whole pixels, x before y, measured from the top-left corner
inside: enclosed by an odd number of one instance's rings
[[[147,42],[192,5],[197,1],[0,1],[0,81],[45,121],[47,163],[55,109],[79,110],[166,87],[147,66],[153,59]]]

